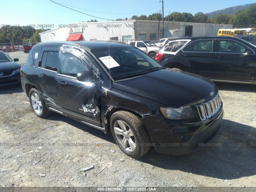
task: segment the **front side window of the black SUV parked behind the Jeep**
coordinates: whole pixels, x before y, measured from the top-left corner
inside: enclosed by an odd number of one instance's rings
[[[233,40],[218,40],[218,48],[221,53],[244,53],[247,47]]]

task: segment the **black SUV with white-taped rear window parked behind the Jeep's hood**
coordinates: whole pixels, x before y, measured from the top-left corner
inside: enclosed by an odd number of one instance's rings
[[[163,46],[156,60],[166,68],[191,72],[215,82],[256,84],[256,46],[226,36],[188,37]]]

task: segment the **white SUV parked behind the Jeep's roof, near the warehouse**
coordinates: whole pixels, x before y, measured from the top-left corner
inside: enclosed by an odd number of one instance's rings
[[[148,54],[152,58],[156,58],[156,53],[159,51],[161,46],[156,46],[156,44],[150,40],[132,40],[128,44],[135,46]]]

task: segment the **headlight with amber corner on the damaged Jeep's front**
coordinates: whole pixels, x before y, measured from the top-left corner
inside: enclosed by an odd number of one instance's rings
[[[194,118],[194,112],[190,106],[180,107],[180,108],[160,108],[163,116],[167,119],[177,120],[177,119],[191,119]]]

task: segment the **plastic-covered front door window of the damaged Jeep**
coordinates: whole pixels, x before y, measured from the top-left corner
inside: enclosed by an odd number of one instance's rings
[[[60,56],[60,74],[76,77],[76,75],[88,68],[80,58],[70,53],[61,53]]]

